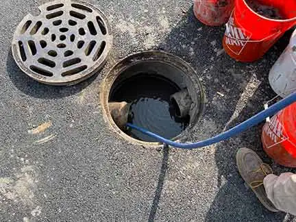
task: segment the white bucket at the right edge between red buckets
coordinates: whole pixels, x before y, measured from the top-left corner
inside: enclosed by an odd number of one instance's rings
[[[296,30],[289,45],[271,68],[269,84],[283,98],[296,91]]]

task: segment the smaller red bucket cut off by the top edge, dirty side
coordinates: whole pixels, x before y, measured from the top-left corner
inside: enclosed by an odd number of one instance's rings
[[[193,11],[201,23],[223,25],[234,9],[234,0],[195,0]]]

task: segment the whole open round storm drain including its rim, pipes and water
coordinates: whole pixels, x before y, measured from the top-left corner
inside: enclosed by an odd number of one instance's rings
[[[116,64],[103,82],[101,103],[113,129],[128,140],[156,142],[136,130],[185,139],[204,108],[204,90],[186,62],[162,51],[144,51]],[[144,141],[144,142],[143,142]]]

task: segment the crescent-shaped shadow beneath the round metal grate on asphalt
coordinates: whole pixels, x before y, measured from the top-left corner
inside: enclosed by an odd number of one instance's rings
[[[90,85],[96,79],[97,75],[99,75],[98,71],[97,74],[74,86],[49,86],[41,84],[18,68],[12,57],[12,51],[8,53],[6,69],[14,86],[16,86],[18,90],[21,90],[21,92],[29,96],[41,99],[58,99],[75,95]]]

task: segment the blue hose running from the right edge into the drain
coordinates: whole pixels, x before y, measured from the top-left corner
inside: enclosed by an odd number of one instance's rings
[[[182,149],[195,149],[199,147],[206,147],[208,145],[212,145],[214,143],[219,143],[223,140],[227,140],[228,138],[231,138],[232,136],[236,136],[237,134],[240,134],[241,132],[244,132],[245,130],[248,130],[250,127],[253,127],[254,125],[258,125],[260,122],[264,121],[264,119],[267,119],[269,116],[273,116],[280,110],[286,108],[287,106],[291,105],[296,101],[296,93],[293,93],[286,97],[285,99],[282,99],[281,101],[278,101],[277,103],[273,104],[273,106],[267,108],[266,110],[263,110],[256,114],[255,116],[251,117],[247,121],[240,123],[239,125],[236,125],[230,130],[227,130],[226,132],[223,132],[217,136],[214,136],[212,138],[208,138],[207,140],[202,140],[197,143],[176,143],[172,140],[168,140],[166,138],[163,138],[162,136],[159,136],[157,134],[153,134],[153,132],[149,132],[148,130],[145,130],[141,127],[138,127],[136,125],[133,125],[131,123],[127,123],[127,127],[131,127],[134,130],[138,130],[139,132],[142,132],[143,134],[146,134],[147,136],[150,136],[152,138],[155,138],[161,143],[165,143],[167,145],[171,145],[172,147],[182,148]]]

